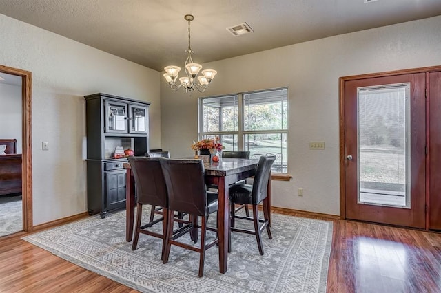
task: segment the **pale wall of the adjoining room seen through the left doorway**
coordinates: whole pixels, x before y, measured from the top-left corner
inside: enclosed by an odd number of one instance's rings
[[[21,86],[0,83],[0,138],[15,138],[21,153]]]

